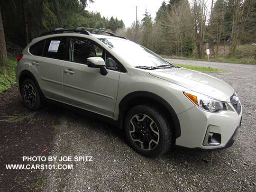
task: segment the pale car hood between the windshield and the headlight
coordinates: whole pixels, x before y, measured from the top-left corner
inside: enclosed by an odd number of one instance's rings
[[[230,101],[234,89],[215,77],[185,68],[155,70],[152,76],[181,85],[184,88],[210,96],[219,101]],[[185,91],[185,89],[184,89]]]

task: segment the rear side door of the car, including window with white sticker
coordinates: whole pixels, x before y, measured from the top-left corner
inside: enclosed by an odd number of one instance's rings
[[[59,101],[63,95],[62,78],[67,37],[52,37],[39,43],[40,47],[44,45],[42,53],[37,54],[33,46],[29,49],[33,54],[30,70],[37,74],[37,81],[45,96]]]

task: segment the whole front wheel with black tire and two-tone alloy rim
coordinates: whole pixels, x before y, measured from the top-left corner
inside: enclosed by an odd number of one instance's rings
[[[129,144],[149,157],[164,154],[172,144],[172,131],[165,116],[148,105],[138,105],[128,111],[125,133]]]

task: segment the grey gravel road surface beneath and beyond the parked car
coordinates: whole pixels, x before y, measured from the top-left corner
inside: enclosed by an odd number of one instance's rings
[[[201,61],[168,60],[208,66]],[[210,65],[228,71],[209,74],[232,85],[243,105],[242,127],[233,146],[216,152],[176,148],[159,158],[146,158],[133,151],[123,132],[112,125],[59,110],[48,155],[92,156],[92,162],[63,163],[73,164],[72,170],[40,171],[38,178],[43,179],[37,190],[256,191],[256,65]],[[41,113],[46,112],[39,111],[37,116]]]

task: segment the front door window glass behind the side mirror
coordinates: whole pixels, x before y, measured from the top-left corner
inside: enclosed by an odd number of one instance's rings
[[[88,57],[102,56],[102,49],[93,45],[85,38],[72,37],[70,42],[69,60],[86,64]]]

